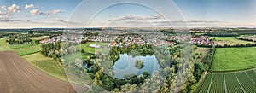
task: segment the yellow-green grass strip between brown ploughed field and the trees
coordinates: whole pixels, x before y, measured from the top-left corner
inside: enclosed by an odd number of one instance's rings
[[[52,58],[44,57],[44,55],[41,55],[40,53],[24,55],[22,58],[32,64],[33,67],[37,67],[44,73],[54,76],[55,78],[67,80],[64,68],[59,64],[58,61],[55,61]]]

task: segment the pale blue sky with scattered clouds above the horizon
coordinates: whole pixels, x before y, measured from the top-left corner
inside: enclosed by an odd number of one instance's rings
[[[256,27],[255,0],[0,0],[0,28]]]

